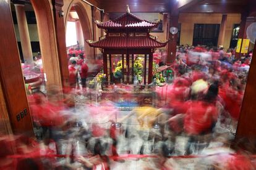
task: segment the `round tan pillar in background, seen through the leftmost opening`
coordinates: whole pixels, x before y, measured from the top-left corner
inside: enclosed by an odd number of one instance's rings
[[[14,6],[15,6],[17,23],[18,23],[19,33],[20,33],[20,44],[22,46],[23,59],[24,59],[24,62],[27,62],[28,64],[32,64],[33,53],[32,53],[32,47],[30,44],[27,17],[24,9],[25,4],[22,4],[21,2],[19,3],[16,2]]]

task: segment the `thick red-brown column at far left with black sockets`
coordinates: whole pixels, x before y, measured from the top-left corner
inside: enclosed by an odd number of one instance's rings
[[[5,101],[4,105],[6,105],[14,134],[27,133],[33,136],[32,119],[9,1],[0,2],[0,28],[0,83],[4,97],[2,100]]]

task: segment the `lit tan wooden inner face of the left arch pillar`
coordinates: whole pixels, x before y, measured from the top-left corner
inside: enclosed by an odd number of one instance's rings
[[[46,73],[46,87],[56,85],[62,87],[54,20],[51,4],[48,0],[30,0],[36,15],[43,70]]]

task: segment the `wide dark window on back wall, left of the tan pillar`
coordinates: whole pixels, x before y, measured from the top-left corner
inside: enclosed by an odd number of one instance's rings
[[[195,24],[193,46],[218,46],[220,24]]]

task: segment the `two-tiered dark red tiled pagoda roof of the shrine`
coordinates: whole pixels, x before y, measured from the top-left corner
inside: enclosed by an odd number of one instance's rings
[[[95,21],[98,28],[107,30],[106,36],[100,38],[99,41],[87,40],[91,47],[98,47],[102,49],[145,49],[145,48],[159,48],[166,46],[167,42],[156,41],[156,38],[149,34],[151,28],[158,26],[159,22],[148,22],[142,20],[134,14],[130,13],[129,7],[127,12],[121,17],[108,22]],[[129,29],[134,28],[143,30],[143,33],[133,33]],[[116,30],[116,33],[108,32],[108,30]],[[122,30],[121,33],[119,32]],[[112,34],[112,35],[111,35]]]

